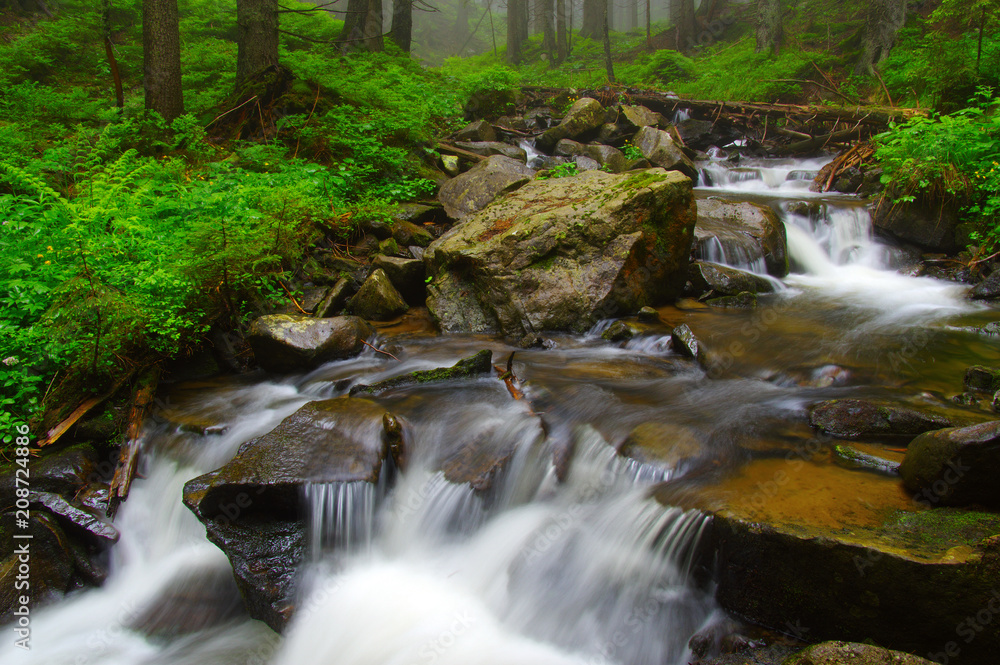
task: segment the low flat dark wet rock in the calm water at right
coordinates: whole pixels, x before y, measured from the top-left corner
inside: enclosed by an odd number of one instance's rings
[[[900,404],[834,399],[814,405],[809,424],[838,439],[861,439],[913,438],[954,423],[937,413]]]

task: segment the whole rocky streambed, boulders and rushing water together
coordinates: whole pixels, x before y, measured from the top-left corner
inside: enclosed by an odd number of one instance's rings
[[[114,525],[96,449],[33,462],[37,662],[989,662],[989,281],[688,130],[473,123],[440,208],[247,331],[262,371],[164,386]]]

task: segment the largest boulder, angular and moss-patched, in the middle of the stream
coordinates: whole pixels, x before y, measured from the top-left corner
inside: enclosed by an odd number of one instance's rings
[[[695,214],[661,169],[532,182],[428,248],[428,307],[447,332],[585,331],[680,294]]]

